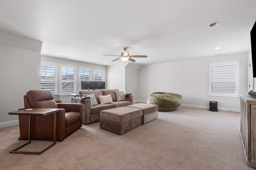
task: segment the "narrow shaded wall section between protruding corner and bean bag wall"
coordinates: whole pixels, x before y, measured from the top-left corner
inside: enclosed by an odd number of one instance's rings
[[[141,65],[128,63],[125,67],[125,92],[131,93],[133,101],[139,100],[139,69]]]

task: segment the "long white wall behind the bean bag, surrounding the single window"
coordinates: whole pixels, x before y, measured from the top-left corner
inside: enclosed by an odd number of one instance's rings
[[[239,99],[208,96],[210,62],[232,59],[240,59],[239,93],[248,94],[248,53],[236,53],[142,66],[139,98],[146,101],[152,92],[172,92],[182,95],[182,106],[209,108],[209,102],[216,101],[219,109],[240,112]]]

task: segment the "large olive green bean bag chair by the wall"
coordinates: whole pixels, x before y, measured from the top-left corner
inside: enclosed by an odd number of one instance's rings
[[[154,92],[148,96],[147,104],[156,104],[158,111],[174,111],[180,107],[182,96],[179,94]]]

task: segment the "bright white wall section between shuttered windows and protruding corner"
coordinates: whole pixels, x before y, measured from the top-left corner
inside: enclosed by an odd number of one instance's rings
[[[125,93],[125,65],[107,66],[106,89],[118,89]]]

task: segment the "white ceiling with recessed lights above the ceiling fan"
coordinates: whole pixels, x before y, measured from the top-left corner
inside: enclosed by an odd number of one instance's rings
[[[123,47],[148,55],[137,64],[248,51],[255,21],[256,0],[0,0],[0,30],[43,41],[42,55],[102,65],[122,63],[102,55]]]

